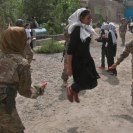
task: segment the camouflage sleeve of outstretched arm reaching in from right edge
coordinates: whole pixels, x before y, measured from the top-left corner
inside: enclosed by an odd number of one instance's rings
[[[126,47],[123,53],[120,55],[119,58],[117,58],[117,61],[115,64],[119,65],[126,57],[128,57],[128,55],[131,53],[132,50],[133,50],[133,40],[126,44]]]

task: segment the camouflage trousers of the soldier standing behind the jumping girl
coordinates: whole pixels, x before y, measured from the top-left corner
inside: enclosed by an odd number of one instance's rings
[[[67,75],[67,58],[66,58],[66,54],[64,55],[64,68],[63,68],[63,72],[62,72],[62,75],[61,75],[61,78],[64,82],[67,82],[68,80],[68,75]]]

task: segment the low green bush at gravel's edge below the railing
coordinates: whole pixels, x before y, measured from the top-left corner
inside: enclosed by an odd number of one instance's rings
[[[41,44],[41,46],[35,50],[35,52],[37,53],[60,53],[63,52],[64,50],[64,44],[63,43],[59,43],[55,40],[49,40],[47,42],[43,42]]]

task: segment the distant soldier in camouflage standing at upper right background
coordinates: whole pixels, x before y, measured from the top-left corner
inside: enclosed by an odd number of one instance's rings
[[[127,32],[127,25],[128,25],[128,21],[125,18],[122,18],[121,23],[119,25],[119,34],[122,40],[121,46],[125,46],[125,35]]]

